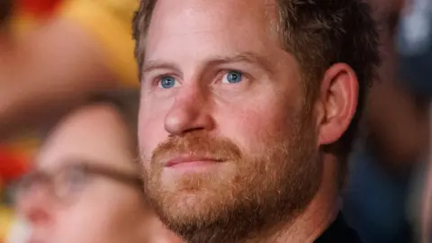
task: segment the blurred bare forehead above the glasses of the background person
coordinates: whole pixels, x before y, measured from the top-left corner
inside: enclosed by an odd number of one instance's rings
[[[103,104],[91,105],[60,121],[42,145],[36,160],[39,167],[47,169],[80,159],[132,169],[130,140],[116,109]]]

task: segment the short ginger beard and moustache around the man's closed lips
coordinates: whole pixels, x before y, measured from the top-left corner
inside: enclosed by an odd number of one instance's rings
[[[150,205],[186,242],[266,241],[302,213],[318,191],[322,165],[309,119],[297,116],[254,149],[204,131],[171,136],[144,170]],[[164,175],[166,157],[190,154],[224,161],[211,172]]]

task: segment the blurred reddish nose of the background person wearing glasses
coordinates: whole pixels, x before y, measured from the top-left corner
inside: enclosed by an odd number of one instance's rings
[[[54,210],[52,206],[47,190],[40,186],[29,189],[17,198],[18,213],[31,225],[48,223],[51,220],[50,211]]]

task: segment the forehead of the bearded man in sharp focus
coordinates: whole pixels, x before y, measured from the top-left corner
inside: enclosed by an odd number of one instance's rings
[[[279,46],[275,10],[266,0],[159,0],[148,28],[146,59],[259,52],[271,42]]]

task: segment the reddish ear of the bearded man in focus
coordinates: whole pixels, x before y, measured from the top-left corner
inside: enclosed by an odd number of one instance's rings
[[[319,145],[337,141],[356,113],[358,80],[347,64],[335,64],[326,71],[320,84],[318,103]]]

